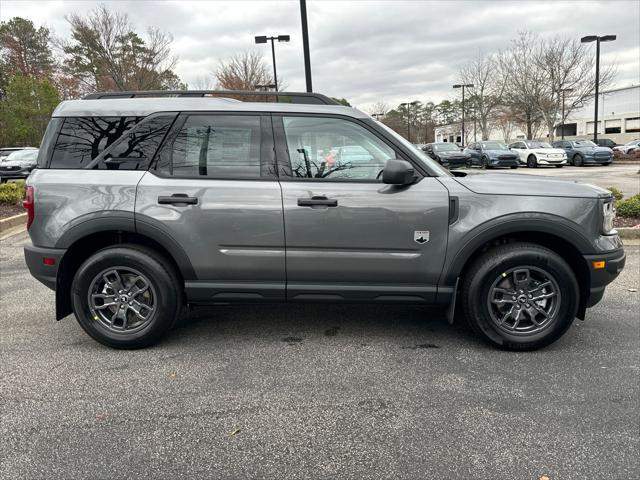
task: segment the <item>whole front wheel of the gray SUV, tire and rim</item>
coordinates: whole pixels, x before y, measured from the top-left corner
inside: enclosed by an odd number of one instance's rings
[[[509,350],[534,350],[560,338],[573,323],[579,297],[571,267],[529,243],[496,247],[478,258],[462,294],[471,328]]]

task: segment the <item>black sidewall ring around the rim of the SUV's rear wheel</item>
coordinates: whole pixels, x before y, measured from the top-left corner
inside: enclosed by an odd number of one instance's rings
[[[155,290],[155,314],[142,329],[132,333],[108,330],[93,320],[88,289],[100,272],[110,267],[130,267],[142,273]],[[172,277],[162,264],[144,251],[131,248],[101,250],[78,269],[71,287],[73,312],[80,326],[98,342],[115,348],[140,348],[157,342],[171,327],[178,313],[179,299]],[[173,295],[170,292],[175,292]]]

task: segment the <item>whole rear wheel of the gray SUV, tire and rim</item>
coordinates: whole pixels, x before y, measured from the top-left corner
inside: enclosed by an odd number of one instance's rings
[[[73,312],[98,342],[142,348],[158,342],[181,308],[177,275],[158,255],[137,245],[100,250],[78,269]]]

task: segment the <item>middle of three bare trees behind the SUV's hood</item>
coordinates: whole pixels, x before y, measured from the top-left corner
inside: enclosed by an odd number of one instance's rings
[[[536,127],[542,120],[540,103],[544,96],[545,74],[535,61],[537,45],[536,34],[520,32],[511,41],[510,48],[500,51],[497,56],[504,82],[504,104],[530,139],[535,136]]]

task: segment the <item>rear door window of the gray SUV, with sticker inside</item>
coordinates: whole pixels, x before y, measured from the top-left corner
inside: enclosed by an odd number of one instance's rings
[[[260,177],[260,117],[191,115],[160,155],[158,170],[177,177]]]

